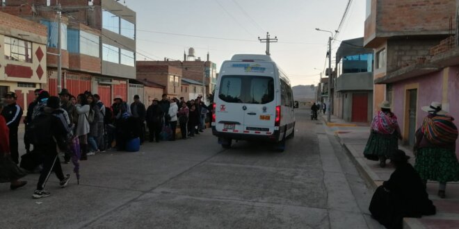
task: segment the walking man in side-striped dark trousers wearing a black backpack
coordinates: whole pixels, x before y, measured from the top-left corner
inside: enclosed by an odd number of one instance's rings
[[[33,192],[33,198],[43,198],[50,195],[45,191],[45,185],[51,171],[56,173],[61,187],[66,187],[70,180],[70,174],[64,176],[61,161],[58,157],[57,147],[64,151],[67,149],[66,139],[68,135],[68,126],[61,121],[59,114],[56,112],[60,108],[59,98],[56,96],[49,97],[47,105],[43,112],[36,116],[30,126],[31,141],[34,150],[42,156],[43,169],[38,179],[37,189]],[[54,115],[56,114],[56,115]]]

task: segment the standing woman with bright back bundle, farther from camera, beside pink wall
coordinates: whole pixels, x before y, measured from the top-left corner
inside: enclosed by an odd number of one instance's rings
[[[379,160],[381,168],[386,166],[386,160],[398,149],[398,139],[401,139],[397,117],[390,110],[388,101],[383,101],[381,110],[371,121],[371,133],[364,149],[364,156],[369,160]]]

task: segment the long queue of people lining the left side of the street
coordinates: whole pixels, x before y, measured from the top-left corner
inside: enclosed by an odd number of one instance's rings
[[[17,134],[23,111],[14,92],[8,92],[6,99],[0,101],[0,183],[10,183],[10,189],[17,189],[26,185],[26,181],[19,180],[26,176],[24,171],[40,172],[33,198],[50,195],[45,185],[51,172],[61,187],[68,185],[71,176],[63,173],[60,153],[63,163],[70,164],[72,160],[77,169],[79,161],[111,149],[112,144],[118,151],[127,150],[132,139],[143,144],[145,124],[150,142],[175,141],[177,127],[182,139],[187,139],[204,131],[209,112],[202,97],[185,101],[163,94],[161,101],[154,99],[145,108],[138,95],[130,105],[115,96],[111,106],[90,92],[75,97],[63,89],[58,95],[35,90],[35,100],[24,117],[26,153],[20,164]]]

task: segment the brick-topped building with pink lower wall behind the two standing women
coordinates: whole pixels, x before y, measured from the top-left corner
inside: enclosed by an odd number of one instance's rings
[[[458,114],[457,60],[437,55],[454,43],[456,1],[372,0],[367,11],[364,45],[375,50],[373,111],[390,101],[404,142],[412,145],[426,115],[422,106],[439,101]]]

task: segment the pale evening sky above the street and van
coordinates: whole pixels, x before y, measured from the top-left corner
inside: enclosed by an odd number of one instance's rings
[[[122,2],[124,0],[121,0]],[[258,37],[276,37],[271,57],[287,73],[291,85],[319,83],[330,33],[335,31],[348,0],[125,0],[137,13],[137,60],[183,60],[184,51],[210,60],[220,70],[236,53],[264,54]],[[332,43],[364,35],[365,0],[352,1],[346,21]],[[328,65],[328,62],[327,62]],[[315,69],[314,69],[315,68]],[[319,69],[319,70],[316,70]]]

